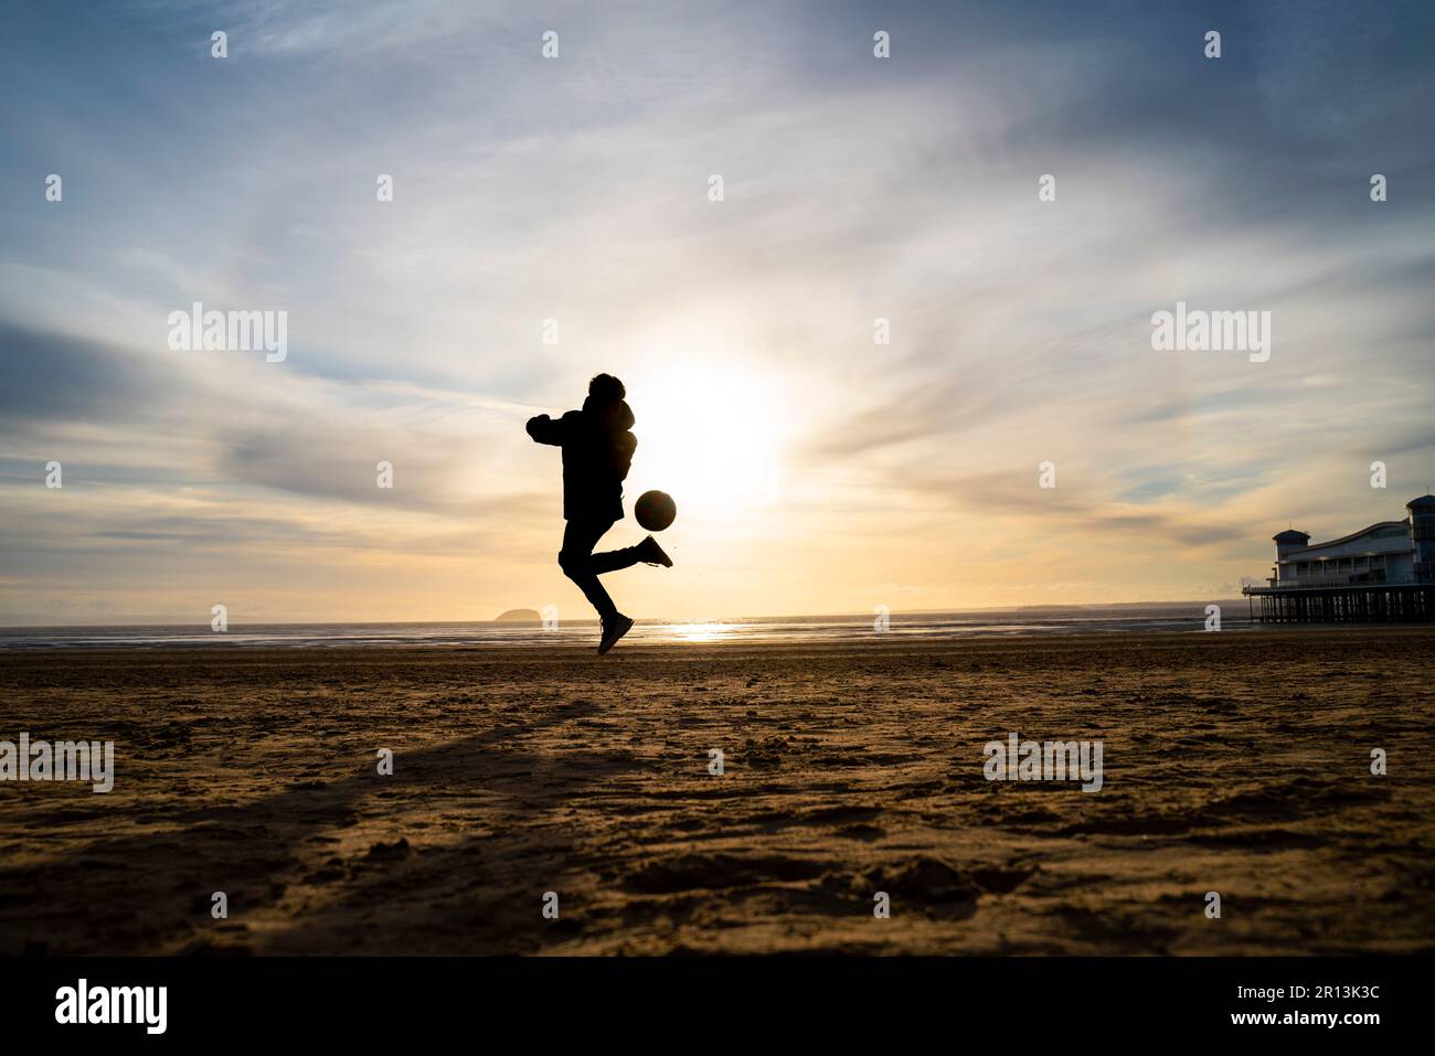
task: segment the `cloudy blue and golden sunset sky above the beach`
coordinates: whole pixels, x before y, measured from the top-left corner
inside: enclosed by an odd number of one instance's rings
[[[0,623],[587,618],[524,422],[600,370],[679,509],[626,613],[1231,597],[1435,485],[1432,52],[1422,0],[11,10]],[[195,301],[286,357],[169,347]],[[1155,350],[1178,301],[1269,359]]]

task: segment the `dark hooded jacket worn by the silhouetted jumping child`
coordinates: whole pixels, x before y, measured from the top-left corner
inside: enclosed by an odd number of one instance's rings
[[[554,420],[528,419],[538,443],[563,448],[563,517],[565,521],[621,521],[623,481],[633,465],[637,438],[626,400],[598,403],[591,396],[583,410]]]

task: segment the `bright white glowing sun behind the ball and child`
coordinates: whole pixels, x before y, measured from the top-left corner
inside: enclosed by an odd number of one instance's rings
[[[742,514],[776,496],[792,428],[778,376],[715,357],[633,376],[627,389],[639,438],[624,486],[633,498],[666,491],[682,519]]]

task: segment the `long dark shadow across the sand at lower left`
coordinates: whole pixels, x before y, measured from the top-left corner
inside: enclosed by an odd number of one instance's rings
[[[0,869],[3,951],[534,951],[578,927],[573,915],[545,923],[540,914],[542,892],[561,892],[564,875],[580,868],[564,805],[633,763],[623,753],[505,742],[598,710],[554,707],[399,752],[387,778],[364,760],[354,776],[298,782],[243,805],[145,812],[142,821],[161,828]],[[73,822],[73,809],[65,812]],[[344,839],[354,826],[364,851],[354,834]],[[44,828],[42,816],[34,828]],[[435,828],[453,839],[432,839]],[[420,847],[405,835],[416,831],[425,831]],[[214,891],[225,892],[228,920],[211,917]],[[83,941],[60,938],[75,935],[77,920]]]

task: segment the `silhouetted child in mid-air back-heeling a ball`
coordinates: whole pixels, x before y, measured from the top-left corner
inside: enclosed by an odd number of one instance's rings
[[[657,539],[649,535],[636,547],[594,554],[598,539],[623,519],[623,481],[633,463],[637,438],[631,433],[633,412],[624,402],[627,389],[611,374],[588,382],[583,410],[570,410],[554,422],[547,415],[528,419],[528,435],[538,443],[563,448],[563,531],[558,567],[578,584],[603,618],[598,656],[629,633],[633,621],[613,604],[598,577],[629,568],[639,561],[673,567]]]

